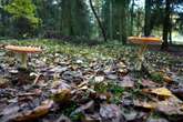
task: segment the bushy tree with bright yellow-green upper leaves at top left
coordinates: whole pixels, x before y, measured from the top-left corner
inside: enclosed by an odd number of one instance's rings
[[[35,17],[35,6],[31,0],[13,0],[3,8],[11,14],[16,38],[33,35],[41,20]]]

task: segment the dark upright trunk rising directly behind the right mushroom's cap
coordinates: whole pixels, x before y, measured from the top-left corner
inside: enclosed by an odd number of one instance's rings
[[[149,37],[151,34],[151,0],[145,0],[145,26],[144,26],[144,35]]]

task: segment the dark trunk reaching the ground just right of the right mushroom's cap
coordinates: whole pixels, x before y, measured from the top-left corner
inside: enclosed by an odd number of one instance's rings
[[[167,42],[167,37],[169,37],[169,31],[170,31],[170,14],[171,14],[171,1],[166,0],[166,6],[165,6],[165,17],[164,17],[164,22],[163,22],[163,43],[161,49],[162,50],[167,50],[169,48],[169,42]]]

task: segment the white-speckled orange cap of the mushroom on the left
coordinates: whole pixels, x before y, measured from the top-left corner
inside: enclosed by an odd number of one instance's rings
[[[19,45],[7,45],[7,50],[19,52],[19,53],[38,53],[42,52],[40,48],[35,47],[19,47]]]

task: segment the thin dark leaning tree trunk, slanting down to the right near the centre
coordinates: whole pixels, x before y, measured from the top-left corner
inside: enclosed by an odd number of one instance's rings
[[[92,12],[93,12],[93,14],[94,14],[94,17],[95,17],[95,19],[96,19],[96,21],[98,21],[98,24],[99,24],[99,27],[100,27],[100,29],[101,29],[101,32],[102,32],[102,35],[103,35],[103,40],[106,42],[106,41],[108,41],[108,40],[106,40],[106,34],[105,34],[104,28],[103,28],[103,26],[102,26],[102,22],[100,21],[100,18],[98,17],[98,13],[96,13],[95,10],[94,10],[92,0],[89,0],[89,2],[90,2],[90,7],[91,7],[91,9],[92,9]]]

